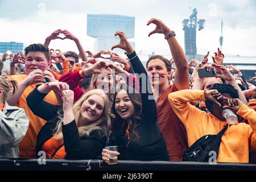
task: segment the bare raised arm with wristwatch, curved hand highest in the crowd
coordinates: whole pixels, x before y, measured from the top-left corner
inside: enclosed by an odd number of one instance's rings
[[[189,87],[189,75],[188,75],[188,63],[187,58],[185,57],[184,51],[181,48],[179,42],[177,42],[174,31],[171,31],[170,28],[166,26],[161,20],[156,18],[151,18],[147,25],[155,24],[155,30],[151,31],[148,36],[152,34],[164,34],[165,39],[169,44],[172,57],[174,58],[174,62],[176,65],[175,72],[175,86],[177,89],[188,89]]]

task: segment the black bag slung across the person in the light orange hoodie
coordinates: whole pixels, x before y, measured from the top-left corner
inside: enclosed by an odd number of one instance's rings
[[[225,126],[217,135],[205,135],[196,140],[196,142],[185,151],[183,161],[209,162],[210,151],[215,151],[218,158],[221,137],[226,129],[228,129],[228,126]]]

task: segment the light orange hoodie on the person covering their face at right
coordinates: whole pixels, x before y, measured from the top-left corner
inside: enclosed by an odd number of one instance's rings
[[[204,90],[180,90],[170,93],[168,99],[186,127],[189,147],[204,135],[216,135],[228,125],[228,122],[189,104],[190,101],[205,100]],[[237,122],[229,126],[221,138],[217,162],[249,163],[249,151],[256,151],[256,112],[244,104],[237,114],[247,119],[250,125]]]

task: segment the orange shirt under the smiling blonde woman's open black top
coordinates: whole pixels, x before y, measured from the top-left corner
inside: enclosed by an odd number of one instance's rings
[[[61,146],[61,143],[59,142],[59,140],[56,140],[52,137],[52,138],[48,139],[46,142],[44,142],[44,144],[42,146],[42,150],[44,152],[46,152],[46,158],[49,159],[49,158],[51,158],[51,155],[53,154],[53,152],[55,152],[57,150],[57,148],[60,146]],[[65,147],[62,146],[56,152],[56,154],[53,156],[52,159],[64,159],[66,154],[67,153],[65,152]]]

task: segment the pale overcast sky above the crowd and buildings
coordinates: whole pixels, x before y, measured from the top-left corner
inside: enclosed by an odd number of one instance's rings
[[[183,19],[192,9],[205,28],[197,31],[197,48],[214,51],[219,47],[221,19],[224,22],[224,53],[256,56],[256,1],[254,0],[0,0],[0,42],[43,43],[57,29],[67,29],[80,39],[84,49],[93,51],[94,38],[86,36],[86,14],[117,14],[135,17],[136,51],[168,49],[163,35],[147,37],[155,26],[150,18],[162,19],[184,47]],[[77,51],[70,40],[54,40],[51,48]]]

